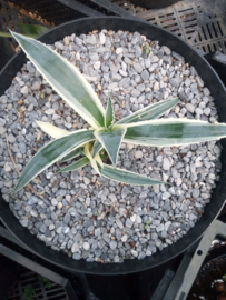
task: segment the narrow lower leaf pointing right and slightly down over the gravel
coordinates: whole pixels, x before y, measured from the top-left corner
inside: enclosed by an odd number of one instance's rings
[[[102,176],[118,182],[124,182],[126,184],[156,186],[167,183],[134,172],[129,172],[122,169],[112,168],[106,163],[104,163],[102,168],[98,164],[98,168]]]

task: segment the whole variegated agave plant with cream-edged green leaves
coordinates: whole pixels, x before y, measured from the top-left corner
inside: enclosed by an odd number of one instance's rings
[[[91,86],[75,66],[41,42],[19,33],[11,33],[53,90],[91,126],[89,130],[68,132],[50,123],[37,121],[55,140],[37,152],[26,166],[14,189],[16,192],[55,162],[68,161],[79,156],[82,158],[60,171],[73,171],[90,163],[99,174],[111,180],[127,184],[160,184],[161,181],[116,168],[121,142],[169,147],[226,137],[224,123],[210,124],[188,119],[156,120],[177,104],[178,98],[149,104],[115,122],[110,96],[105,110]],[[107,152],[111,166],[102,162],[101,149]]]

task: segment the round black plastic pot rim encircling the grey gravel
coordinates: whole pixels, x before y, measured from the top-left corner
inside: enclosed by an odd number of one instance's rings
[[[165,44],[171,50],[184,56],[186,62],[197,69],[206,87],[209,88],[217,106],[219,121],[226,121],[226,90],[215,70],[188,43],[161,28],[145,22],[115,17],[87,18],[56,27],[55,29],[41,36],[39,40],[46,43],[53,43],[55,41],[62,40],[65,36],[72,34],[73,32],[76,34],[80,34],[88,33],[92,30],[101,29],[111,29],[115,31],[126,30],[130,32],[138,31],[151,40],[159,40],[160,44]],[[19,52],[2,70],[2,72],[0,73],[0,94],[2,94],[10,86],[11,80],[20,70],[24,61],[26,56],[23,54],[23,52]],[[82,271],[85,273],[96,274],[125,274],[159,266],[184,252],[189,246],[197,241],[207,230],[207,228],[212,224],[212,222],[216,219],[218,212],[220,211],[220,208],[223,207],[226,199],[226,139],[222,140],[222,144],[224,149],[222,152],[223,168],[220,173],[220,180],[217,182],[217,187],[213,191],[212,201],[206,207],[205,213],[203,214],[202,219],[196,223],[193,229],[188,231],[188,233],[184,238],[178,240],[176,243],[143,260],[127,260],[120,264],[101,264],[97,262],[86,262],[83,260],[75,261],[71,258],[68,258],[62,252],[57,252],[47,248],[43,242],[39,241],[27,229],[22,228],[10,211],[8,203],[6,203],[2,198],[0,200],[1,219],[7,226],[7,228],[23,244],[30,248],[31,251],[36,252],[43,259],[71,272]]]

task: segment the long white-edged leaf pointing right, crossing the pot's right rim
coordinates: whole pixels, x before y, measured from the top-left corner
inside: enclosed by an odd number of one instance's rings
[[[124,141],[144,146],[181,146],[226,137],[225,123],[188,119],[160,119],[124,126],[127,128]]]

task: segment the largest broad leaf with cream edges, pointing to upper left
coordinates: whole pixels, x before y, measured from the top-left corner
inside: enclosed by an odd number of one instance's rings
[[[94,128],[105,126],[105,109],[75,66],[43,43],[10,31],[45,79]]]

